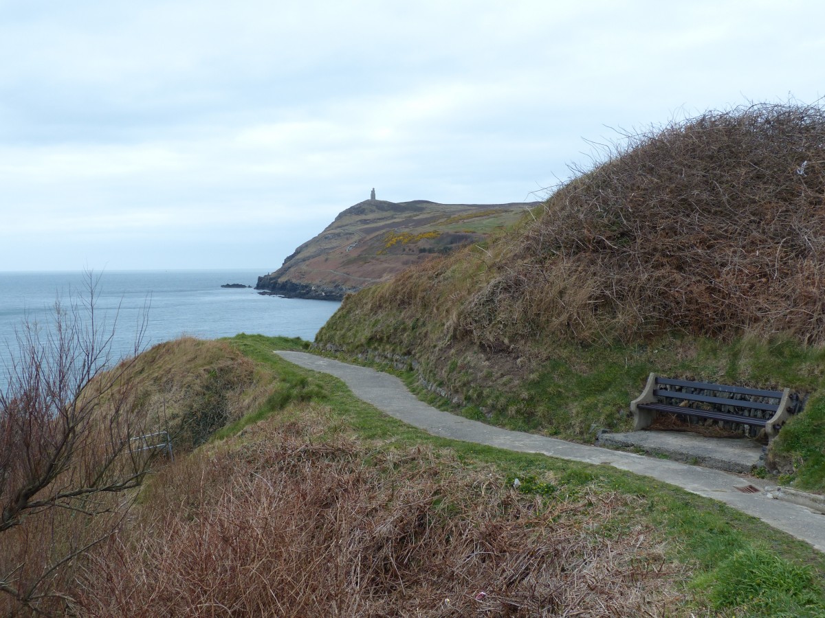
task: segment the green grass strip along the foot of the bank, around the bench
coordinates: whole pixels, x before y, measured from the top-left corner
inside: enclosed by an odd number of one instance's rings
[[[466,343],[445,344],[432,321],[412,315],[375,308],[361,315],[358,304],[350,302],[342,315],[324,326],[319,339],[351,353],[412,355],[420,368],[403,379],[422,400],[442,410],[580,442],[592,442],[600,428],[629,430],[629,403],[642,391],[650,372],[704,382],[788,387],[808,396],[808,405],[773,442],[769,476],[825,492],[823,347],[782,335],[731,342],[680,335],[635,344],[536,341],[515,353],[484,353]],[[419,375],[446,389],[450,398],[426,391],[417,383]],[[456,395],[462,403],[450,400]]]

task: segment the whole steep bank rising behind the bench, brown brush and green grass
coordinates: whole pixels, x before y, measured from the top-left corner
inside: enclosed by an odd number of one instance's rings
[[[650,371],[811,395],[771,470],[825,489],[825,113],[755,105],[628,139],[515,230],[347,297],[318,334],[411,358],[465,414],[590,440]]]

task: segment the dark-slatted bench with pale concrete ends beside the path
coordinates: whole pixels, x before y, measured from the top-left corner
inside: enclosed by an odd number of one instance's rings
[[[790,389],[764,391],[743,386],[690,382],[651,373],[642,394],[630,403],[634,431],[648,427],[660,412],[695,419],[713,419],[765,428],[775,438],[790,414],[799,409],[799,396]]]

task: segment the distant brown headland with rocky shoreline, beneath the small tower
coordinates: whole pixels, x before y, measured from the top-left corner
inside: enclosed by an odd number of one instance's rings
[[[483,241],[535,203],[436,204],[367,199],[304,242],[256,289],[289,298],[342,300],[434,254]]]

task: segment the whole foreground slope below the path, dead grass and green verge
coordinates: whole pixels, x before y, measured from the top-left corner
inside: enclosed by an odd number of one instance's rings
[[[822,555],[751,517],[609,466],[434,438],[272,353],[299,342],[229,344],[266,398],[153,480],[83,571],[80,614],[145,597],[142,616],[825,611]]]

